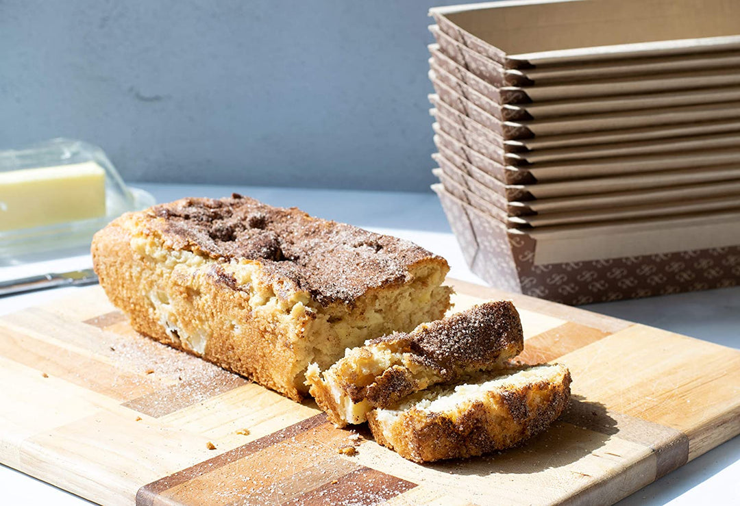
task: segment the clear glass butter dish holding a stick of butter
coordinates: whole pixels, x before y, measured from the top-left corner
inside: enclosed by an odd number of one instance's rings
[[[90,244],[154,198],[129,188],[98,146],[52,139],[0,151],[0,258]]]

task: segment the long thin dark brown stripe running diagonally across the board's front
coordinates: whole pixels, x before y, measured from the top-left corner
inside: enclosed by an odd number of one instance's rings
[[[252,453],[256,453],[263,448],[275,445],[285,439],[295,437],[304,431],[308,431],[325,423],[327,423],[326,414],[317,414],[301,422],[290,425],[280,431],[269,434],[268,436],[255,439],[255,441],[249,442],[239,448],[234,448],[233,450],[221,453],[221,455],[215,456],[212,459],[205,460],[189,468],[178,471],[175,474],[165,476],[155,482],[144,485],[136,493],[136,505],[152,506],[156,497],[170,488],[189,482],[191,479],[210,473],[215,469],[229,464],[230,462],[243,459],[244,457]]]

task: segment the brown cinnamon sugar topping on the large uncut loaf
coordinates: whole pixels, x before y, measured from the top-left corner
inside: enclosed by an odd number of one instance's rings
[[[369,289],[408,281],[408,267],[436,257],[406,240],[323,220],[295,207],[230,198],[184,198],[154,206],[149,217],[174,249],[219,260],[260,260],[320,303],[351,303]]]

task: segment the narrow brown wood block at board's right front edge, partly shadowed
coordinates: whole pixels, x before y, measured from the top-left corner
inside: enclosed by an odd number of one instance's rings
[[[574,396],[575,397],[575,396]],[[599,402],[571,398],[571,405],[560,417],[577,427],[650,448],[656,456],[656,477],[665,476],[688,461],[689,438],[681,431],[635,416],[608,411]]]

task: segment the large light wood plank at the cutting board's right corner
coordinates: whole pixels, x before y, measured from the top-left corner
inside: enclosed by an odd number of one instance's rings
[[[558,361],[571,369],[574,394],[687,434],[690,459],[740,432],[736,350],[632,325]]]

